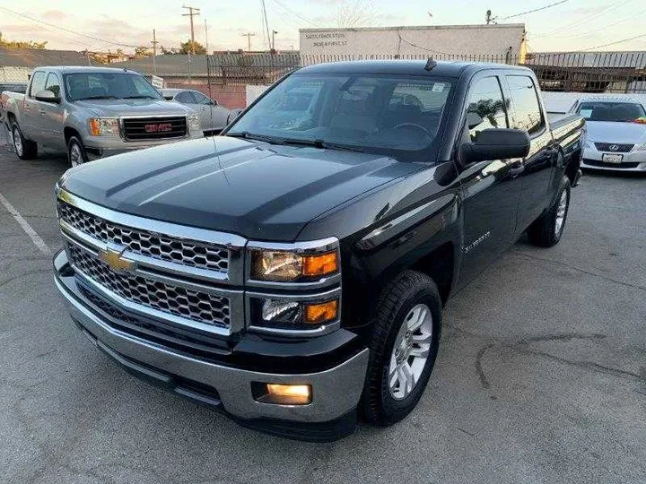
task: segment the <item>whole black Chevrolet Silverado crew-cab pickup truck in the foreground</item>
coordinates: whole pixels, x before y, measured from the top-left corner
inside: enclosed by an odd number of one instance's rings
[[[450,295],[523,232],[562,237],[583,121],[509,65],[313,65],[223,135],[57,183],[55,281],[128,371],[325,441],[419,401]]]

